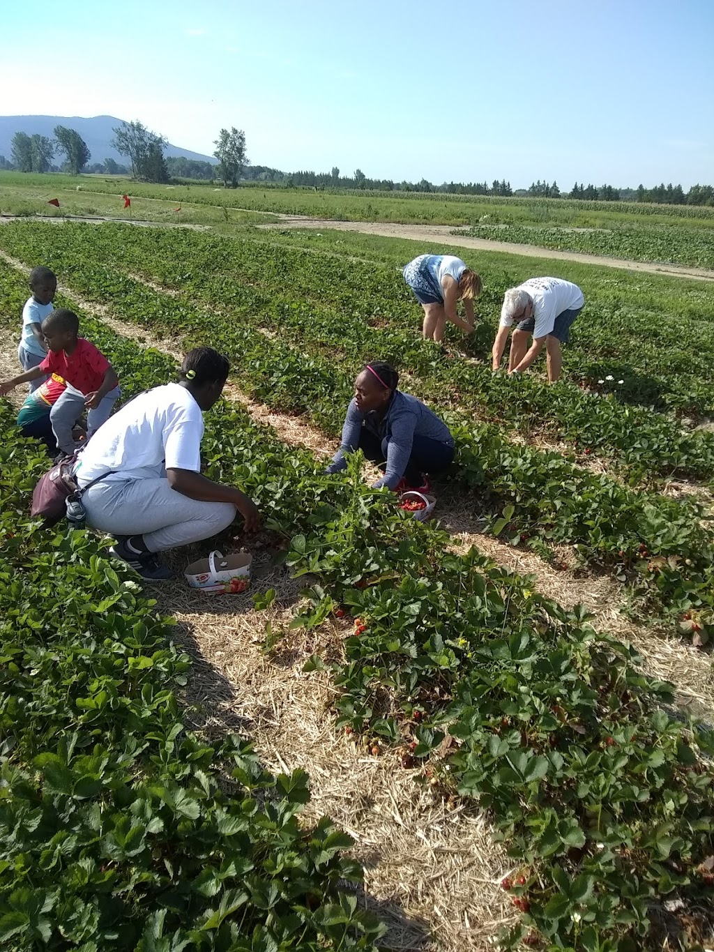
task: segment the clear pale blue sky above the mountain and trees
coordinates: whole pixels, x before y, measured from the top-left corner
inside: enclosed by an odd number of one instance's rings
[[[395,180],[714,181],[714,0],[0,9],[4,115],[138,118],[201,152],[234,125],[255,164]]]

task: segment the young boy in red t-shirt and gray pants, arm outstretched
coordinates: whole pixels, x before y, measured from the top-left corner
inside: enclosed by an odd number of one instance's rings
[[[42,332],[48,346],[48,355],[37,367],[32,367],[18,377],[0,384],[0,397],[12,387],[30,383],[38,377],[56,373],[67,382],[65,392],[50,410],[52,432],[63,454],[75,450],[72,427],[87,407],[87,438],[111,413],[111,407],[119,397],[119,378],[109,361],[93,344],[78,337],[79,318],[71,310],[60,307],[42,322]]]

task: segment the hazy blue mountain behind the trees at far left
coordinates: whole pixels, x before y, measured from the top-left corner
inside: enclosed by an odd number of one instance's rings
[[[114,159],[124,165],[127,159],[112,149],[109,143],[114,138],[113,129],[121,124],[121,119],[113,116],[92,116],[85,119],[82,116],[0,116],[0,155],[10,161],[10,145],[15,132],[27,132],[28,135],[47,135],[52,138],[55,126],[66,126],[75,129],[87,143],[91,152],[90,163],[104,162],[105,159]],[[190,149],[181,149],[180,146],[167,146],[164,154],[186,156],[187,159],[199,159],[203,162],[216,164],[211,155],[201,155]],[[57,158],[55,157],[55,162]],[[61,160],[60,160],[61,161]]]

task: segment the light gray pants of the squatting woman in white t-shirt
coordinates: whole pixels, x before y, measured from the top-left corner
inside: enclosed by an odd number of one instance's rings
[[[82,496],[87,524],[111,535],[142,535],[150,552],[201,542],[235,518],[231,503],[203,503],[176,492],[164,478],[106,482]]]

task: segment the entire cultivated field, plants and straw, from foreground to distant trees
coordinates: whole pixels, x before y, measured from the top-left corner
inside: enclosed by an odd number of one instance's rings
[[[38,264],[123,399],[216,347],[207,472],[264,518],[245,593],[142,589],[30,519],[0,400],[3,947],[711,948],[714,282],[458,242],[705,272],[714,208],[0,173],[0,215],[2,379]],[[401,275],[440,250],[484,282],[444,350]],[[490,370],[539,273],[585,293],[554,387]],[[456,437],[423,525],[324,473],[373,359]]]

